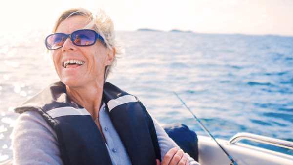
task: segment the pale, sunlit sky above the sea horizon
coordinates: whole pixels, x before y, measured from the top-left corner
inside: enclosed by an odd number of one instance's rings
[[[293,0],[5,0],[0,30],[52,29],[72,7],[104,9],[115,30],[293,36]]]

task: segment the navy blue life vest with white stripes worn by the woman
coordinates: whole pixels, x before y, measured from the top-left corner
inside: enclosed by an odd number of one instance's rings
[[[105,82],[103,102],[132,165],[155,165],[161,159],[153,121],[133,95]],[[86,109],[71,103],[66,87],[55,82],[15,109],[37,111],[55,130],[65,165],[112,165],[105,141]]]

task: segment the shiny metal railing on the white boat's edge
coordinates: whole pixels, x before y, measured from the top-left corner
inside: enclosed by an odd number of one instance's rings
[[[293,142],[271,138],[267,136],[255,135],[247,132],[237,133],[228,141],[227,144],[237,144],[240,140],[250,140],[258,143],[270,144],[293,150]]]

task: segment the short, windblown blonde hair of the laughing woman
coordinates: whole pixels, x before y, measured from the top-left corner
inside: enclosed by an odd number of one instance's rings
[[[93,28],[100,36],[105,40],[105,46],[113,51],[116,50],[114,55],[114,60],[111,65],[105,67],[104,82],[106,81],[109,73],[112,72],[113,67],[116,65],[116,58],[124,53],[124,49],[115,40],[114,24],[112,19],[105,13],[104,10],[98,9],[95,11],[90,11],[84,8],[72,8],[63,11],[63,13],[58,17],[53,28],[53,33],[56,32],[60,23],[73,16],[84,16],[88,19],[88,24],[84,29]]]

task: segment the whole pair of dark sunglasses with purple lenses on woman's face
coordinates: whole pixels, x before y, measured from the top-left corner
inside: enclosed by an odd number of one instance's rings
[[[71,34],[53,33],[45,39],[45,45],[48,50],[56,50],[63,47],[65,40],[70,37],[72,43],[76,46],[91,46],[100,39],[105,45],[105,40],[94,30],[81,29]]]

